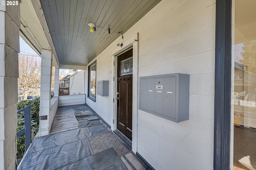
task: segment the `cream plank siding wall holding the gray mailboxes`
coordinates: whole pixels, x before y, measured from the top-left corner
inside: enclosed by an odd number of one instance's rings
[[[188,121],[133,113],[138,114],[137,152],[157,170],[213,169],[215,9],[214,0],[162,0],[124,33],[123,42],[139,33],[138,77],[190,74]],[[113,81],[112,57],[119,41],[96,57],[97,81]],[[96,102],[87,98],[86,103],[112,125],[113,96],[96,95]]]

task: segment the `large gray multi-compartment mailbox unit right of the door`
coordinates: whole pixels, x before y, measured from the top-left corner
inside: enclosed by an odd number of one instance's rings
[[[181,122],[188,120],[189,75],[164,74],[140,77],[139,109]]]

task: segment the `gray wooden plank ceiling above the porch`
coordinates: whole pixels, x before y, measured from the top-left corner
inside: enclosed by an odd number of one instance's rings
[[[86,66],[161,0],[40,0],[58,60]],[[88,23],[110,34],[90,32]]]

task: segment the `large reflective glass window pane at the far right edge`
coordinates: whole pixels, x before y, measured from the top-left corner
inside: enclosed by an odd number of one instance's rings
[[[256,168],[256,1],[234,0],[232,117],[235,170]]]

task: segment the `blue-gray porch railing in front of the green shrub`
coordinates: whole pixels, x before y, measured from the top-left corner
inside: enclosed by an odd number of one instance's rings
[[[17,137],[25,133],[25,148],[28,149],[30,143],[32,142],[31,139],[31,115],[30,115],[30,107],[32,107],[33,104],[28,105],[27,107],[17,111],[17,114],[24,111],[24,128],[21,129],[16,133]]]

